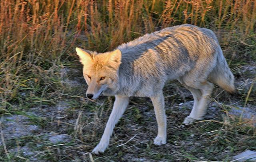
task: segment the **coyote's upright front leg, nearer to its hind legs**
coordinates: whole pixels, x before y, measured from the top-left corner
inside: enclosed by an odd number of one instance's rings
[[[154,144],[166,144],[166,115],[164,109],[164,96],[163,92],[159,92],[150,98],[153,102],[154,111],[156,114],[156,121],[158,124],[158,134],[154,139]]]

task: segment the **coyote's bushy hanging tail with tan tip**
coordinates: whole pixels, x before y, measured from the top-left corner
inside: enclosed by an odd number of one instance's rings
[[[218,84],[221,88],[230,93],[236,92],[234,86],[234,75],[228,67],[226,59],[224,58],[220,47],[218,49],[216,66],[210,73],[210,80],[212,80],[214,83]]]

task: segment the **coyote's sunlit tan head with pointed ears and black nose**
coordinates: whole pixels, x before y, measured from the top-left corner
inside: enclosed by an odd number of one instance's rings
[[[96,99],[104,90],[116,89],[122,58],[120,50],[97,54],[97,52],[76,48],[76,52],[84,65],[84,79],[88,84],[87,98]]]

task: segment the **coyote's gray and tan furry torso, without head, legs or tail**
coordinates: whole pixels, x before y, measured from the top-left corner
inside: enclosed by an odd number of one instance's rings
[[[146,34],[117,49],[122,52],[118,91],[113,94],[108,89],[105,95],[150,97],[162,90],[167,80],[203,82],[221,51],[212,30],[189,24]]]

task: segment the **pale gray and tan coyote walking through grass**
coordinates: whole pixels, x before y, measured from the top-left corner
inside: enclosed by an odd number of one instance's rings
[[[222,54],[220,44],[206,28],[183,24],[164,28],[122,44],[112,52],[97,53],[81,48],[76,52],[83,64],[88,89],[86,96],[115,96],[100,143],[92,151],[104,152],[115,124],[129,103],[129,97],[150,97],[156,114],[158,134],[154,144],[166,144],[166,114],[163,87],[177,79],[194,97],[194,106],[184,124],[202,120],[208,98],[218,84],[235,91],[234,76]],[[210,82],[211,81],[211,82]]]

